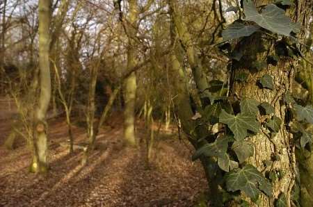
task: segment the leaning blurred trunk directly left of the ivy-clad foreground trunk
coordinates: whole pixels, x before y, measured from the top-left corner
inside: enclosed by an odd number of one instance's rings
[[[204,138],[208,131],[207,128],[202,125],[198,126],[197,122],[192,119],[193,110],[191,108],[190,102],[190,94],[188,92],[187,83],[186,83],[186,74],[184,72],[184,68],[182,67],[182,63],[180,63],[179,58],[182,57],[182,49],[179,41],[176,39],[175,33],[175,24],[172,21],[171,24],[171,42],[174,50],[170,55],[170,63],[171,63],[171,71],[170,76],[177,77],[172,78],[173,92],[172,98],[175,102],[175,113],[177,113],[179,120],[182,123],[182,131],[186,134],[188,141],[193,145],[195,149],[199,149],[204,144],[207,144],[207,141],[202,139]],[[175,93],[174,93],[175,92]],[[201,139],[201,140],[200,140]],[[210,190],[210,200],[213,206],[219,206],[222,204],[222,195],[220,194],[220,190],[218,189],[218,181],[216,178],[220,175],[220,170],[214,171],[216,168],[216,162],[212,158],[207,158],[204,156],[200,157],[200,161],[202,163],[202,167],[204,169],[205,176],[207,178],[207,182],[209,184]],[[215,167],[214,167],[215,166]]]

